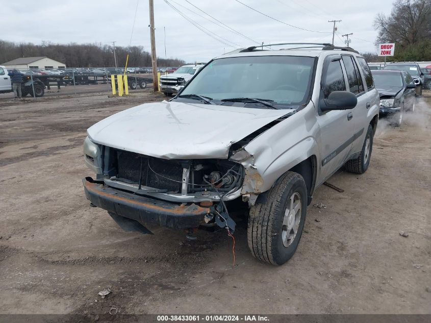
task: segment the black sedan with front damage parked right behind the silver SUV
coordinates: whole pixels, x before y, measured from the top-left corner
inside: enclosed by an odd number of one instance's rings
[[[389,117],[397,126],[401,126],[405,111],[415,111],[416,84],[405,70],[374,70],[374,85],[380,97],[380,117]]]

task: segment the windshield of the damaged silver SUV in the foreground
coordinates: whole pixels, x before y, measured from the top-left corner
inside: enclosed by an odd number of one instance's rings
[[[204,67],[181,94],[199,94],[214,100],[251,97],[276,105],[307,101],[314,58],[302,56],[248,56],[214,60]]]

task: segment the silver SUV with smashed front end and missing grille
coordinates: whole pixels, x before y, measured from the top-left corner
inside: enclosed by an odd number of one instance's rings
[[[252,254],[289,260],[316,188],[340,167],[367,170],[379,96],[349,47],[276,45],[285,49],[217,57],[169,102],[89,128],[91,203],[126,230],[146,232],[142,225],[156,224],[232,233],[248,215]]]

